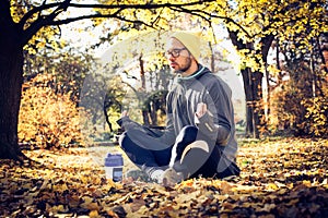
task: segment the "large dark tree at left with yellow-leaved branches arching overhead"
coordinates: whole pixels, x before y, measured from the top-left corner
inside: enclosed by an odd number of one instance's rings
[[[315,27],[311,34],[315,35],[316,29],[323,28],[327,24],[326,2],[323,0],[301,2],[295,0],[283,3],[261,0],[256,5],[250,0],[195,0],[191,2],[175,1],[174,3],[162,3],[160,0],[145,3],[137,0],[121,3],[102,2],[105,3],[82,4],[72,3],[71,0],[54,3],[0,0],[0,158],[19,160],[24,158],[17,146],[17,114],[23,81],[24,48],[26,49],[26,45],[34,45],[36,49],[44,46],[47,37],[42,33],[50,35],[59,33],[58,26],[60,25],[85,19],[94,19],[95,22],[98,21],[96,19],[112,19],[129,23],[133,28],[140,28],[140,26],[165,28],[178,13],[198,17],[196,23],[201,27],[216,25],[224,21],[226,27],[236,34],[238,40],[243,39],[244,45],[250,46],[246,47],[247,51],[243,49],[241,52],[247,55],[244,56],[243,63],[247,63],[249,60],[251,64],[246,66],[251,69],[251,73],[255,72],[255,76],[251,74],[248,77],[256,82],[251,83],[255,97],[250,100],[258,102],[261,95],[257,90],[262,72],[265,72],[262,68],[266,65],[266,49],[269,48],[270,37],[278,33],[289,35],[293,32],[302,32],[304,22],[311,23]],[[78,16],[70,16],[70,9],[86,11]],[[176,23],[183,17],[180,16]],[[38,43],[38,39],[43,40]],[[31,47],[27,49],[30,50]],[[255,113],[255,118],[256,116]],[[248,122],[254,120],[257,122],[258,119],[248,120]],[[258,123],[253,126],[257,129]]]

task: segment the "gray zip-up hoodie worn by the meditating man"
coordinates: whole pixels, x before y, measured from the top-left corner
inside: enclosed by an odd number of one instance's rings
[[[197,119],[197,105],[203,102],[208,112]],[[199,131],[215,143],[223,153],[234,158],[237,150],[235,138],[232,92],[227,84],[199,65],[199,70],[188,76],[177,76],[166,98],[167,130],[177,135],[185,125],[197,125]]]

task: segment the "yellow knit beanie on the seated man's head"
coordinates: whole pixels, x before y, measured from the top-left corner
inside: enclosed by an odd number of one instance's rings
[[[200,33],[177,32],[171,37],[178,39],[190,51],[196,61],[200,57]]]

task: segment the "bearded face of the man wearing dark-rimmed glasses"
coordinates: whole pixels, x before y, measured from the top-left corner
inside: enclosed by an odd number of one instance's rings
[[[176,73],[186,72],[191,65],[191,56],[187,48],[177,39],[169,38],[166,46],[166,58]]]

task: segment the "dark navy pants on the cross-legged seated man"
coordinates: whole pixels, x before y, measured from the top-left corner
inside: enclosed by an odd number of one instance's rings
[[[130,160],[148,173],[156,169],[165,170],[171,164],[176,171],[183,172],[184,178],[225,178],[239,174],[235,162],[229,160],[218,145],[207,142],[207,137],[196,126],[185,126],[173,146],[159,141],[161,131],[138,128],[125,132],[119,143]],[[208,150],[190,148],[188,145],[195,141],[207,142]]]

